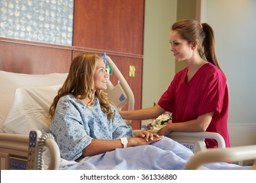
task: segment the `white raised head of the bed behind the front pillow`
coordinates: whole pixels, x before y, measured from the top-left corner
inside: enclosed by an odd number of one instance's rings
[[[63,84],[67,73],[47,75],[28,75],[0,71],[0,133],[3,133],[3,122],[9,113],[17,88],[25,86],[51,86]]]

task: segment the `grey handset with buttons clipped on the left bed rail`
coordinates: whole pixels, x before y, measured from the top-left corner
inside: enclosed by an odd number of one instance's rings
[[[38,143],[41,135],[41,131],[30,131],[27,170],[37,169]]]

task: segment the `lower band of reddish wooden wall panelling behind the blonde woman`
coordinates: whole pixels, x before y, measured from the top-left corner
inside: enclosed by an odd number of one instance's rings
[[[75,46],[60,46],[40,42],[20,41],[0,37],[0,71],[24,74],[68,73],[72,59],[81,52],[102,53],[104,50],[78,49]],[[129,65],[141,68],[142,58],[119,56],[110,52],[110,57],[116,61],[117,67],[126,76],[131,88],[141,85],[141,70],[137,72],[137,82],[129,77]],[[1,79],[1,78],[0,78]],[[113,84],[117,84],[117,76],[110,76]],[[133,90],[135,96],[140,96],[141,90]],[[139,101],[137,99],[137,101]],[[140,108],[140,101],[135,103]],[[127,109],[127,106],[123,107]],[[140,129],[140,121],[133,121],[133,129]]]

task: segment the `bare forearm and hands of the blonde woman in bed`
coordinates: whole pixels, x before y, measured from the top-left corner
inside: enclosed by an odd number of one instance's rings
[[[127,147],[131,146],[141,146],[146,144],[151,144],[156,141],[160,141],[161,137],[156,133],[148,133],[147,131],[142,131],[138,133],[136,137],[127,138]],[[123,148],[120,139],[115,140],[98,140],[93,139],[91,144],[89,144],[83,150],[83,156],[94,156],[96,154],[101,154],[104,152],[115,150],[116,148]]]

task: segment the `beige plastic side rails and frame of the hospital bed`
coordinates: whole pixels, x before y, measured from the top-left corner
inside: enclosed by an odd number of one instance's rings
[[[116,86],[113,86],[110,80],[108,81],[107,92],[110,95],[110,99],[116,104],[118,109],[121,109],[128,103],[128,110],[133,110],[135,100],[129,84],[127,84],[125,78],[123,78],[123,75],[119,72],[119,69],[117,69],[112,59],[108,56],[107,61],[119,80]],[[131,121],[126,122],[127,124],[131,123]],[[136,134],[140,131],[140,129],[133,130],[133,133]],[[150,132],[156,133],[157,129],[150,130]],[[225,148],[223,137],[218,133],[210,132],[171,132],[167,137],[180,142],[194,152],[194,156],[188,161],[184,169],[199,169],[203,164],[211,162],[236,162],[251,159],[255,159],[251,169],[256,169],[256,145]],[[41,141],[43,135],[42,137],[38,137],[38,139]],[[206,149],[205,139],[215,139],[218,142],[219,148]],[[60,150],[51,135],[43,139],[43,145],[49,149],[51,154],[51,161],[47,169],[58,169],[60,165]],[[28,169],[28,163],[31,162],[31,159],[28,158],[28,155],[31,155],[29,146],[30,135],[0,133],[1,170]],[[41,150],[42,149],[43,148],[41,148]],[[43,159],[41,158],[42,156],[40,155],[39,157],[38,152],[34,155],[35,158],[37,158],[35,161],[38,161],[37,163],[39,163],[39,165],[33,167],[33,169],[45,169]]]

